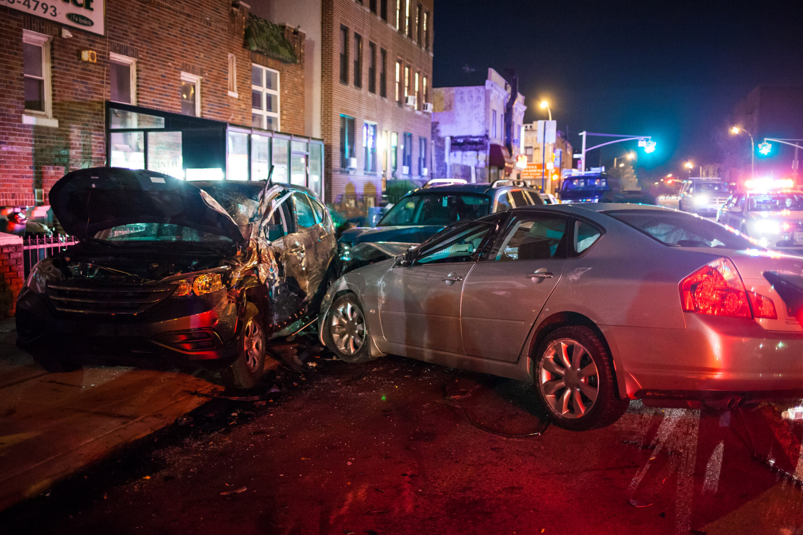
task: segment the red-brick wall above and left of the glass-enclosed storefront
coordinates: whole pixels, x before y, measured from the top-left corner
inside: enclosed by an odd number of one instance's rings
[[[300,63],[243,47],[247,13],[230,0],[107,2],[107,36],[61,26],[0,6],[0,206],[35,205],[63,173],[104,165],[104,101],[109,52],[137,59],[137,105],[181,111],[181,71],[202,76],[201,115],[251,127],[251,61],[279,71],[282,130],[304,135],[304,34],[285,29]],[[22,30],[51,36],[53,118],[58,128],[22,124]],[[80,51],[97,53],[82,62]],[[237,59],[238,98],[228,95],[228,54]]]

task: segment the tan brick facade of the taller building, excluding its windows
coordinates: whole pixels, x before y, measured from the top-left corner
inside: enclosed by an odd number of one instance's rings
[[[377,2],[378,3],[378,2]],[[433,12],[432,2],[422,2],[426,9]],[[377,172],[365,172],[365,156],[362,147],[362,125],[365,121],[377,124],[377,132],[397,132],[398,177],[418,177],[418,138],[426,137],[427,165],[430,164],[431,132],[430,114],[417,111],[411,107],[400,106],[395,101],[395,62],[402,59],[413,71],[426,75],[430,94],[432,87],[432,47],[425,51],[410,38],[400,34],[391,23],[395,23],[395,2],[388,2],[388,22],[369,11],[369,2],[363,5],[353,0],[323,0],[322,21],[322,135],[326,166],[324,180],[326,184],[326,200],[335,202],[344,194],[358,197],[374,197],[378,201],[381,196],[381,151],[377,148]],[[402,4],[403,5],[403,4]],[[415,2],[413,2],[415,5]],[[340,83],[340,26],[349,28],[349,83]],[[431,26],[431,18],[430,18]],[[354,33],[363,39],[362,87],[354,86]],[[415,33],[414,33],[415,35]],[[433,42],[433,31],[430,27],[430,43]],[[377,44],[377,92],[368,91],[369,42]],[[387,97],[379,96],[379,49],[387,51],[385,63]],[[403,75],[403,72],[402,72]],[[412,77],[412,75],[411,75]],[[357,170],[340,168],[340,115],[355,119],[355,156]],[[402,176],[402,134],[413,134],[413,153],[411,176]],[[387,176],[392,178],[392,176]]]

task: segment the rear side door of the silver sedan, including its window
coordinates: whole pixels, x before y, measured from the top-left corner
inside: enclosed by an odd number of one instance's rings
[[[519,212],[463,283],[460,314],[466,355],[516,361],[563,273],[568,217]]]

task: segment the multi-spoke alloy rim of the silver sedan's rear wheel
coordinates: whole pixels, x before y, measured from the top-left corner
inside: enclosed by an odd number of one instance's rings
[[[597,401],[597,365],[576,340],[560,338],[549,344],[539,364],[538,377],[544,398],[556,415],[580,418]]]

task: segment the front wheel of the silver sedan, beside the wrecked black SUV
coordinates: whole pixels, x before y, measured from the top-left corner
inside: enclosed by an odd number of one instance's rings
[[[324,342],[335,356],[347,363],[376,359],[369,351],[368,323],[357,295],[343,294],[332,302],[324,318]]]

